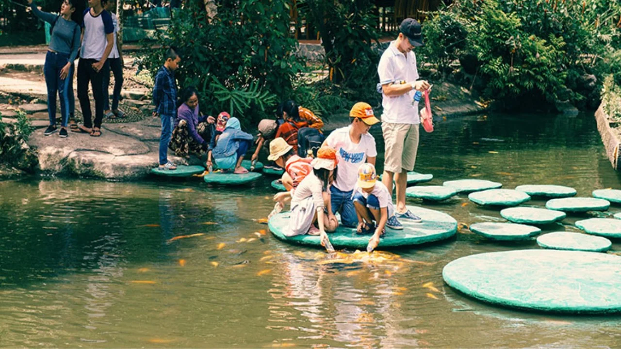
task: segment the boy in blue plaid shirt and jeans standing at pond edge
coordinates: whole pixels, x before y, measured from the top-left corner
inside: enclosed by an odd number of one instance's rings
[[[165,55],[166,61],[155,75],[153,86],[153,104],[155,111],[153,116],[161,118],[160,135],[160,169],[176,170],[177,165],[168,161],[168,143],[173,134],[173,125],[177,116],[177,84],[175,83],[175,70],[179,67],[181,58],[173,48],[168,48]]]

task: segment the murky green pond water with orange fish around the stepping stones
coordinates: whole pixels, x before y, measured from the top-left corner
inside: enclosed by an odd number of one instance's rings
[[[592,115],[456,118],[421,136],[415,170],[434,174],[428,184],[563,184],[578,196],[621,188]],[[534,240],[494,243],[461,229],[383,255],[402,263],[325,263],[321,250],[261,235],[272,179],[233,189],[199,178],[0,182],[0,347],[621,346],[621,315],[502,309],[442,281],[456,258],[538,248]],[[466,196],[424,206],[468,225],[504,221]],[[599,215],[610,212],[621,206]],[[578,231],[584,217],[543,232]],[[202,235],[170,240],[190,234]]]

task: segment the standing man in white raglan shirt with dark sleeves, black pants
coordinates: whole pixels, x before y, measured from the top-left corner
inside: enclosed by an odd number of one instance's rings
[[[78,99],[82,107],[84,125],[74,132],[90,134],[93,137],[101,135],[101,121],[104,118],[104,72],[112,45],[114,45],[114,24],[110,13],[104,10],[106,0],[88,0],[82,22],[83,39],[78,63]],[[95,122],[88,97],[88,83],[93,88],[95,99]]]

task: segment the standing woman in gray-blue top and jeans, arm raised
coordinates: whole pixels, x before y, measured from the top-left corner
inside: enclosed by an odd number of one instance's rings
[[[47,111],[50,117],[50,126],[45,135],[57,132],[56,127],[56,95],[60,96],[60,111],[62,114],[60,137],[67,137],[67,122],[69,119],[71,79],[73,79],[73,60],[78,55],[81,30],[71,16],[76,11],[74,2],[65,0],[60,7],[60,15],[40,11],[32,0],[28,4],[35,16],[52,25],[50,46],[45,56],[43,75],[47,85]]]

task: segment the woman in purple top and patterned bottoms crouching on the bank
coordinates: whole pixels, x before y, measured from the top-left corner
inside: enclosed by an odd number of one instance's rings
[[[202,156],[207,156],[207,160],[210,160],[209,153],[215,147],[215,118],[199,114],[196,88],[184,89],[179,100],[173,137],[168,146],[175,155],[185,158],[194,155],[202,160]],[[207,168],[209,165],[211,160],[206,162]]]

